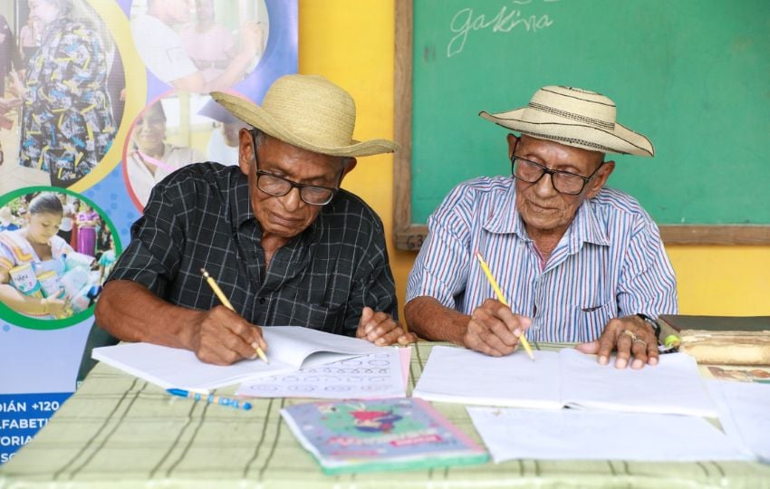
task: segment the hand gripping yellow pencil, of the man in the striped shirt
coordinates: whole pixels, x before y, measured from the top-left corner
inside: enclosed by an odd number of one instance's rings
[[[526,354],[531,360],[534,361],[534,353],[532,347],[529,345],[529,341],[526,340],[524,327],[531,324],[529,318],[524,316],[515,315],[508,307],[508,302],[505,301],[505,296],[500,290],[500,286],[495,280],[495,276],[489,270],[489,266],[484,261],[484,258],[479,252],[475,254],[478,263],[481,265],[481,269],[486,276],[486,280],[492,286],[492,290],[495,291],[497,302],[502,303],[505,307],[500,308],[494,305],[494,301],[487,301],[477,308],[472,315],[472,319],[468,324],[468,330],[471,336],[475,336],[478,340],[474,344],[474,340],[467,339],[466,342],[471,342],[470,347],[474,350],[483,351],[487,354],[505,354],[506,350],[510,349],[512,336],[516,337],[519,343],[526,350]],[[492,302],[490,304],[489,302]],[[500,324],[502,322],[502,325]],[[478,331],[480,329],[480,331]],[[518,335],[514,331],[519,330]],[[469,334],[467,333],[466,336]],[[515,344],[515,343],[514,343]],[[508,350],[507,352],[510,352]]]

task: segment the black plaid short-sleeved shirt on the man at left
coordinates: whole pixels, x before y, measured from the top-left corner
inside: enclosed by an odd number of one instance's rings
[[[200,163],[152,190],[144,216],[110,280],[141,283],[168,302],[207,310],[217,280],[246,321],[305,326],[352,336],[363,306],[397,316],[380,217],[340,190],[301,235],[265,267],[262,230],[238,167]]]

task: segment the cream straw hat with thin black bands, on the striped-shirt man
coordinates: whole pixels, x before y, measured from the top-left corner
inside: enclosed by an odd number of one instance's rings
[[[481,117],[537,139],[575,148],[651,157],[650,139],[615,120],[615,102],[595,91],[547,86],[526,107]]]

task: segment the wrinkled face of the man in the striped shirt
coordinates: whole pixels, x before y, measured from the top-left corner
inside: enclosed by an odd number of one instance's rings
[[[534,161],[552,170],[566,171],[589,177],[602,164],[603,154],[598,151],[564,146],[553,141],[534,139],[523,135],[515,144],[508,137],[509,154]],[[527,231],[563,232],[573,222],[578,207],[586,198],[595,196],[610,176],[611,165],[599,169],[576,196],[566,195],[553,187],[552,176],[544,174],[535,183],[516,180],[516,209],[524,219]]]

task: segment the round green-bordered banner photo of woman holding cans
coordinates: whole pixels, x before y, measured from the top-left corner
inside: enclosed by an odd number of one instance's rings
[[[7,197],[0,205],[4,317],[20,327],[53,329],[90,316],[120,254],[109,216],[85,197],[55,187]]]

